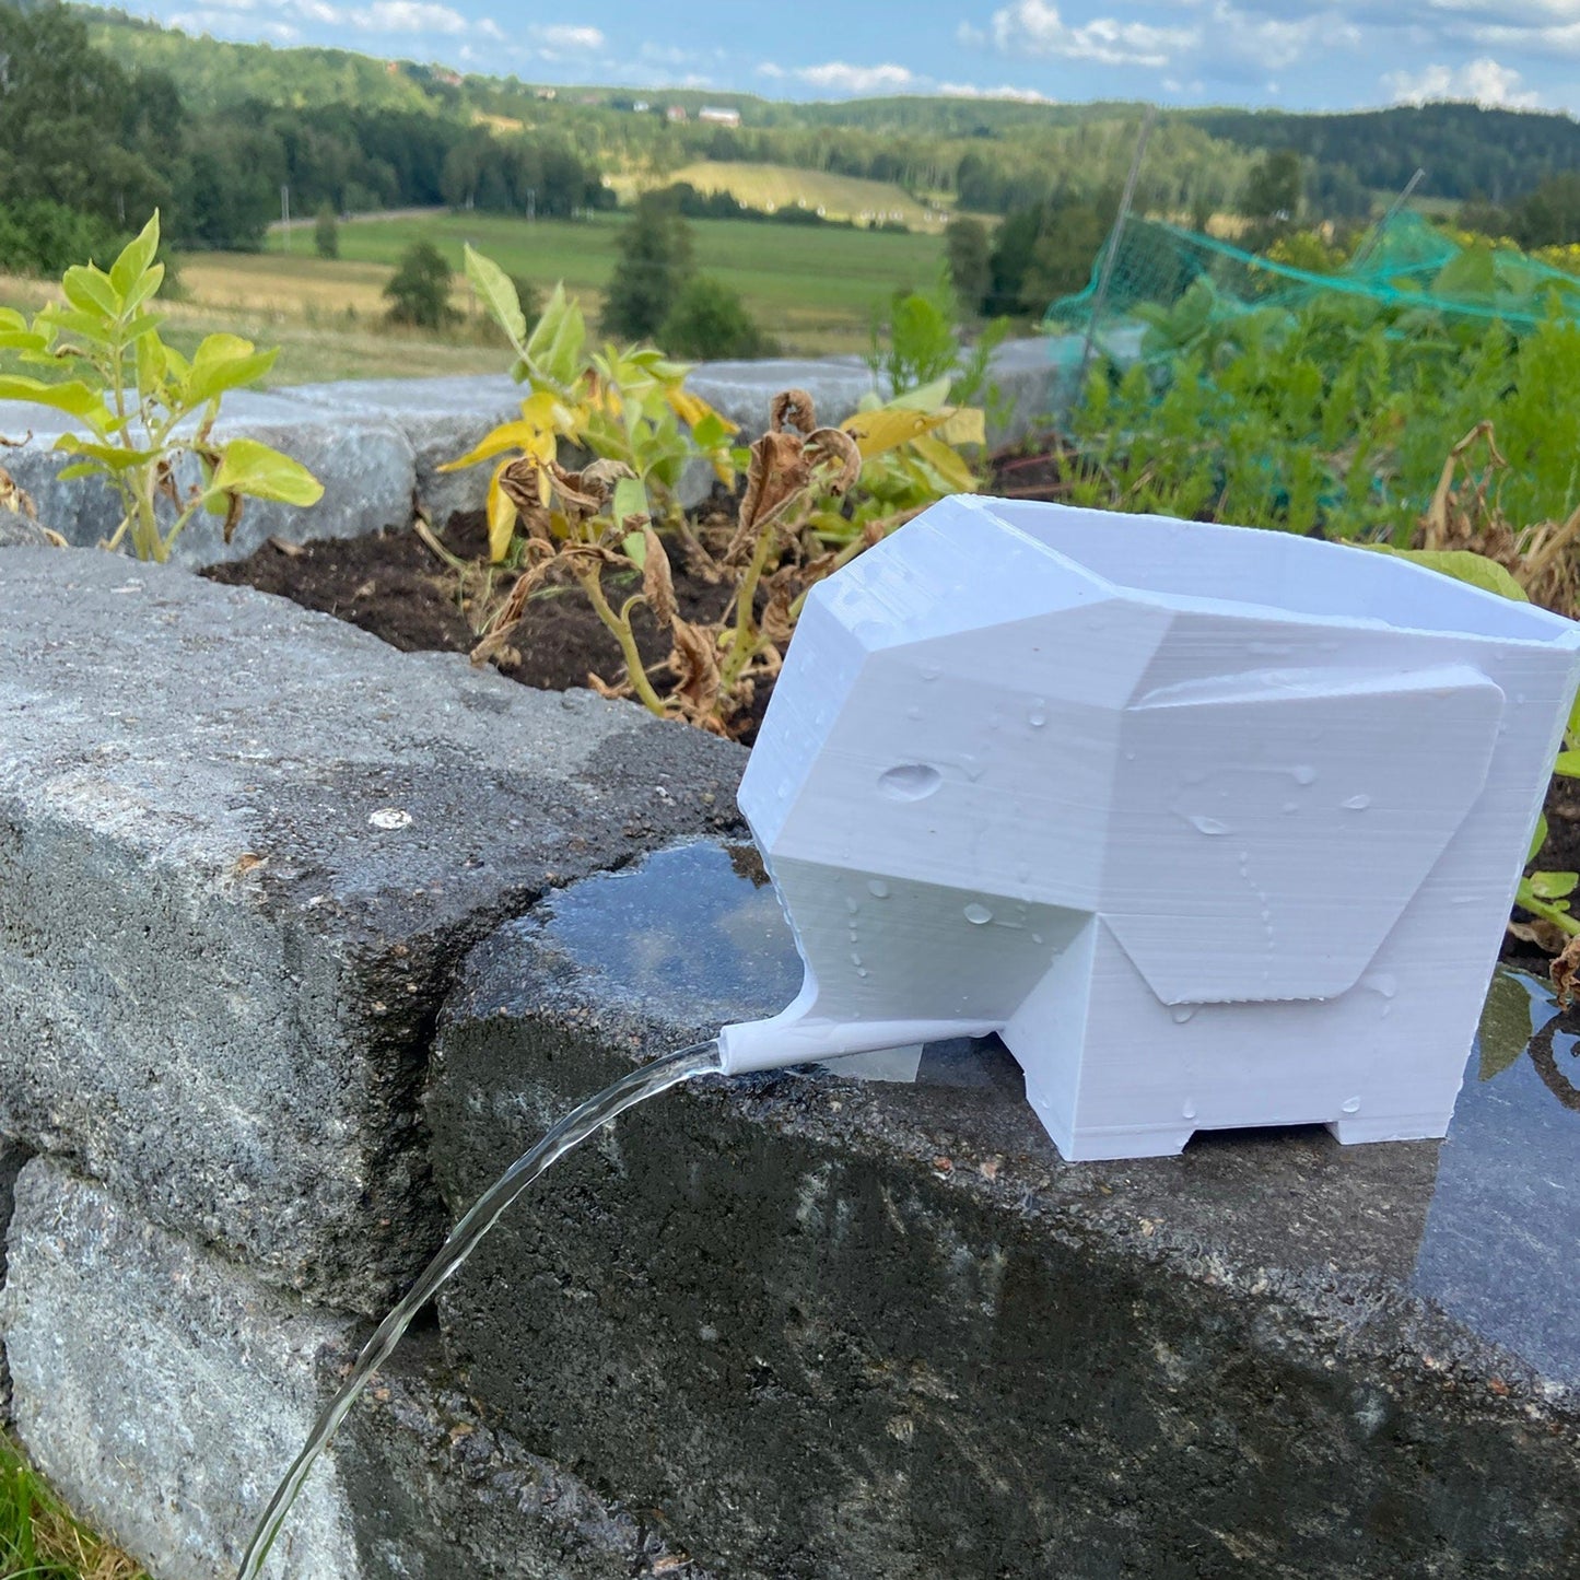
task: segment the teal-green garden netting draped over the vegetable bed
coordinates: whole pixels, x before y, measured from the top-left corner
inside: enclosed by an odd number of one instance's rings
[[[1092,280],[1076,295],[1049,307],[1043,327],[1085,333],[1093,313],[1103,337],[1139,329],[1160,310],[1190,295],[1204,316],[1283,308],[1299,311],[1348,295],[1387,308],[1422,310],[1447,318],[1498,319],[1526,329],[1553,311],[1580,316],[1580,280],[1490,242],[1460,245],[1419,215],[1400,213],[1373,231],[1356,256],[1334,273],[1318,273],[1242,251],[1161,220],[1131,218],[1119,231],[1119,250],[1098,302],[1114,237],[1092,265]]]

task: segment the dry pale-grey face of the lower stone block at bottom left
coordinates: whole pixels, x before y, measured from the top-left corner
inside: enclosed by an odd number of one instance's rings
[[[41,1158],[17,1182],[0,1327],[28,1457],[160,1580],[234,1574],[352,1338]],[[275,1553],[275,1577],[357,1580],[332,1462]]]

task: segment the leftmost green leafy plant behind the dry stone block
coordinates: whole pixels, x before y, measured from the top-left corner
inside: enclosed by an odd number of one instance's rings
[[[258,351],[237,335],[209,335],[188,362],[160,338],[152,310],[164,278],[156,262],[158,213],[109,270],[84,264],[60,281],[65,300],[28,322],[0,308],[0,351],[24,363],[73,374],[60,382],[0,376],[0,400],[30,401],[77,423],[55,449],[77,457],[62,477],[100,477],[118,496],[120,523],[107,548],[130,540],[139,559],[169,559],[199,510],[216,515],[231,540],[243,501],[316,504],[324,490],[307,468],[256,439],[216,439],[228,390],[256,384],[276,351]],[[196,461],[183,477],[182,461]]]

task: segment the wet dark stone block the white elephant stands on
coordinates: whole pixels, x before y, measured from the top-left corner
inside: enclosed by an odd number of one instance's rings
[[[749,867],[654,856],[479,946],[428,1101],[452,1212],[635,1060],[784,1002]],[[442,1332],[493,1422],[728,1580],[1569,1575],[1580,1114],[1544,1089],[1566,1139],[1488,1149],[1495,1087],[1441,1146],[1071,1166],[994,1044],[913,1087],[698,1082],[517,1206]],[[1466,1196],[1523,1207],[1455,1237]],[[1449,1308],[1417,1286],[1443,1236]],[[1526,1240],[1545,1297],[1474,1322]]]

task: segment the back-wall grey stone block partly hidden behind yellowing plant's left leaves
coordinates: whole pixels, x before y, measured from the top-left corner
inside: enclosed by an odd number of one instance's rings
[[[438,528],[457,510],[483,507],[491,471],[480,465],[460,472],[441,472],[439,466],[465,455],[501,422],[520,417],[521,400],[528,393],[502,373],[438,379],[343,379],[335,384],[300,384],[289,390],[292,400],[307,406],[352,419],[378,419],[398,428],[416,455],[417,501]]]

